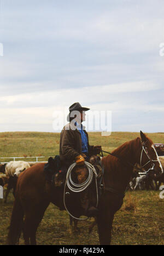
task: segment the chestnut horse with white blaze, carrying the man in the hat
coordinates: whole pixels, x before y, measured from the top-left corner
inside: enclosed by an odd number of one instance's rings
[[[97,217],[100,244],[110,244],[114,214],[122,206],[124,192],[131,179],[134,164],[139,163],[147,172],[153,170],[156,174],[163,173],[153,141],[142,132],[140,137],[141,139],[128,141],[114,150],[112,153],[115,156],[108,155],[102,158],[104,191],[99,198]],[[21,230],[24,232],[25,244],[29,244],[29,240],[31,244],[36,244],[37,227],[49,203],[52,202],[64,209],[63,189],[61,186],[51,186],[45,180],[43,167],[44,164],[37,164],[21,173],[17,180],[8,235],[9,244],[17,243]],[[87,175],[86,170],[83,169],[83,172]],[[81,171],[77,176],[81,177]],[[79,214],[81,208],[78,200],[78,196],[74,198],[76,208],[71,208],[71,213],[77,217],[82,215]]]

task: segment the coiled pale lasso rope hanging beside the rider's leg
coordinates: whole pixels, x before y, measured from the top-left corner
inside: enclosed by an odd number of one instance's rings
[[[68,171],[67,171],[64,194],[63,194],[63,203],[66,208],[66,211],[68,212],[69,215],[71,215],[72,218],[77,219],[77,220],[86,220],[86,219],[88,219],[88,217],[84,218],[84,219],[76,218],[71,213],[69,213],[69,211],[66,207],[66,203],[65,203],[65,192],[66,192],[66,185],[68,186],[69,190],[71,190],[72,192],[81,192],[81,191],[85,190],[91,184],[92,179],[93,179],[93,173],[95,173],[95,176],[97,178],[97,173],[96,173],[95,167],[93,167],[92,164],[90,164],[89,162],[85,161],[84,163],[89,171],[89,175],[88,175],[87,179],[84,181],[84,183],[75,184],[72,180],[71,172],[72,172],[73,168],[77,165],[77,163],[71,164],[71,166],[69,166]],[[97,179],[95,179],[95,180],[96,180],[96,194],[97,194],[96,207],[97,207],[98,206],[98,189],[97,189]]]

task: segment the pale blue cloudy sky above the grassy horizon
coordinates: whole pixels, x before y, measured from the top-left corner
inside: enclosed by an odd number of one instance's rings
[[[55,132],[79,101],[164,131],[163,0],[1,0],[0,132]],[[163,44],[162,44],[163,43]]]

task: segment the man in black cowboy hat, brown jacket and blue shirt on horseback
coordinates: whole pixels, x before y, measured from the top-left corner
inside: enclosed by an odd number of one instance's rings
[[[85,121],[85,111],[88,110],[90,109],[82,107],[80,103],[74,103],[69,107],[67,116],[69,123],[63,127],[60,136],[60,158],[67,169],[74,161],[78,165],[83,165],[84,161],[87,161],[90,156],[101,152],[101,146],[91,146],[89,144],[88,134],[82,125],[82,122]],[[82,204],[85,204],[85,202]],[[88,216],[95,215],[97,209],[91,206],[86,212]]]

